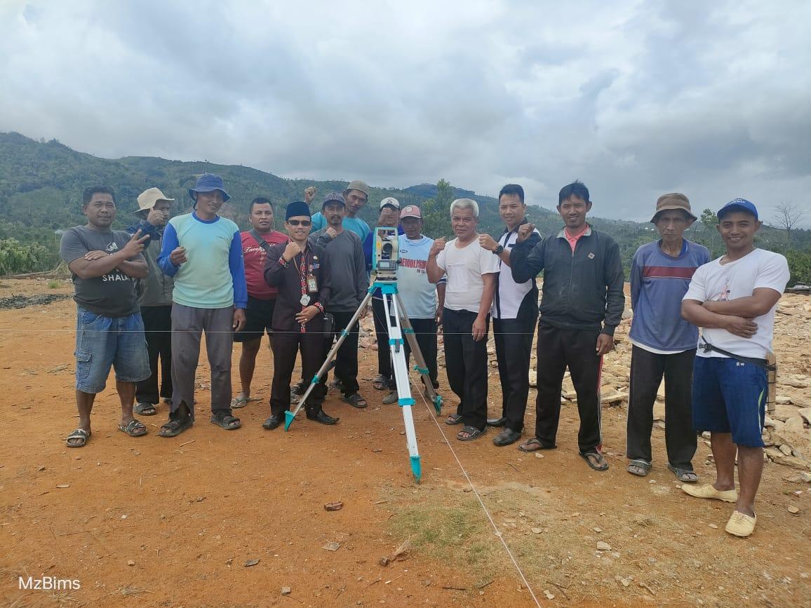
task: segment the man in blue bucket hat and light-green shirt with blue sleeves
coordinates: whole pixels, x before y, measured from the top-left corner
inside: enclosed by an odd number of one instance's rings
[[[238,429],[231,413],[232,330],[245,325],[247,286],[242,238],[233,221],[217,215],[230,199],[222,178],[203,173],[189,196],[194,211],[169,220],[158,265],[174,277],[172,306],[172,409],[161,437],[174,437],[195,420],[195,370],[200,336],[211,367],[211,422]]]

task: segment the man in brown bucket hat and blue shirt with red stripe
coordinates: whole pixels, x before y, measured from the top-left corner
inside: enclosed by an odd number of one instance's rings
[[[710,261],[710,252],[683,237],[696,221],[686,196],[660,196],[650,221],[661,238],[637,249],[631,264],[628,472],[644,477],[650,471],[654,401],[664,376],[667,468],[681,482],[692,483],[698,479],[691,462],[696,433],[690,398],[698,328],[681,318],[681,299],[693,272]]]

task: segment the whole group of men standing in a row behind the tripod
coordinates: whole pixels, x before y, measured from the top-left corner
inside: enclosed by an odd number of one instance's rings
[[[342,193],[328,193],[315,213],[315,189],[307,188],[303,201],[284,209],[284,233],[275,229],[274,209],[266,198],[251,201],[251,229],[245,232],[220,216],[229,195],[216,175],[202,175],[189,195],[193,211],[169,219],[173,199],[150,188],[138,197],[139,223],[123,233],[110,229],[114,192],[88,188],[83,201],[88,224],[67,230],[62,238],[62,259],[73,274],[77,302],[79,427],[68,436],[69,447],[84,446],[90,438],[93,399],[105,387],[111,366],[122,405],[120,430],[145,435],[146,427],[133,414],[155,414],[161,397],[170,408],[159,435],[187,430],[195,421],[195,370],[203,333],[211,368],[210,419],[225,430],[240,426],[234,409],[252,399],[264,333],[273,352],[264,428],[284,422],[291,400],[300,398],[315,378],[339,333],[345,339],[329,386],[340,390],[349,405],[367,406],[358,384],[358,323],[349,327],[370,288],[374,233],[358,216],[369,199],[366,183],[355,180]],[[417,206],[401,208],[391,197],[379,204],[377,224],[399,227],[398,291],[434,387],[439,387],[438,328],[443,331],[448,384],[458,398],[445,423],[461,425],[461,441],[480,438],[488,427],[500,427],[496,446],[520,441],[537,324],[535,429],[518,447],[523,452],[556,447],[568,368],[580,417],[578,452],[591,469],[605,471],[600,375],[624,313],[619,247],[586,221],[592,203],[581,182],[561,189],[557,211],[564,227],[548,238],[527,221],[521,186],[504,186],[498,203],[504,232],[496,239],[478,233],[476,201],[454,200],[455,238],[448,242],[423,234]],[[663,195],[651,219],[660,238],[633,257],[627,470],[644,477],[652,467],[653,406],[664,379],[667,467],[689,495],[736,503],[727,532],[743,537],[756,522],[766,356],[788,270],[783,256],[755,247],[761,222],[753,203],[734,199],[717,215],[727,252],[710,262],[706,247],[684,238],[696,220],[689,199]],[[385,313],[375,295],[371,310],[379,373],[373,387],[388,391],[384,403],[396,403]],[[488,418],[491,320],[501,404]],[[242,343],[241,392],[232,399],[234,340]],[[291,390],[299,353],[302,381]],[[320,376],[304,405],[309,419],[333,425],[338,418],[323,409],[326,376]],[[711,434],[717,479],[694,486],[692,459],[702,431]],[[734,480],[736,454],[740,494]]]

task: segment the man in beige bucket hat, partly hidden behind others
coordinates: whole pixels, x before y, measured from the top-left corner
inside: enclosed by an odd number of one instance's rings
[[[135,413],[141,416],[155,414],[155,406],[161,397],[166,403],[172,399],[172,287],[174,280],[166,276],[157,265],[157,256],[163,244],[163,229],[169,220],[169,199],[158,188],[148,188],[138,195],[139,222],[127,228],[127,232],[149,236],[144,243],[144,258],[149,274],[139,279],[136,285],[141,317],[144,319],[144,334],[147,339],[149,370],[152,375],[135,387]],[[158,360],[160,359],[160,386],[158,384]],[[160,390],[159,390],[160,389]]]

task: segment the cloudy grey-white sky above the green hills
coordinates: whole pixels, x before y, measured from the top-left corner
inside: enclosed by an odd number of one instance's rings
[[[82,152],[600,216],[791,202],[811,224],[811,2],[3,0],[0,131]]]

